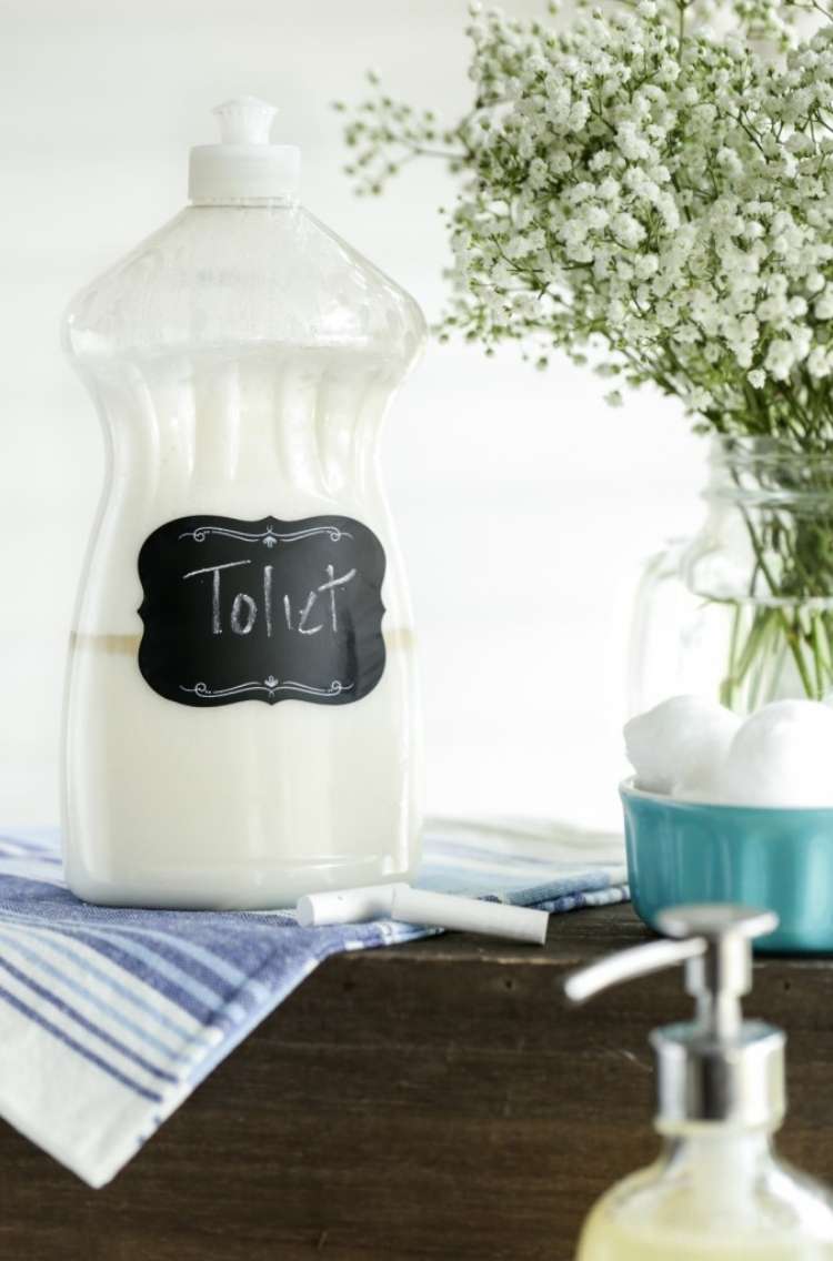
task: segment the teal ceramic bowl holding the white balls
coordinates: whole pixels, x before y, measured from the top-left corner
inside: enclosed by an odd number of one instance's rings
[[[833,808],[711,806],[621,789],[634,909],[737,902],[775,910],[756,948],[833,952]]]

